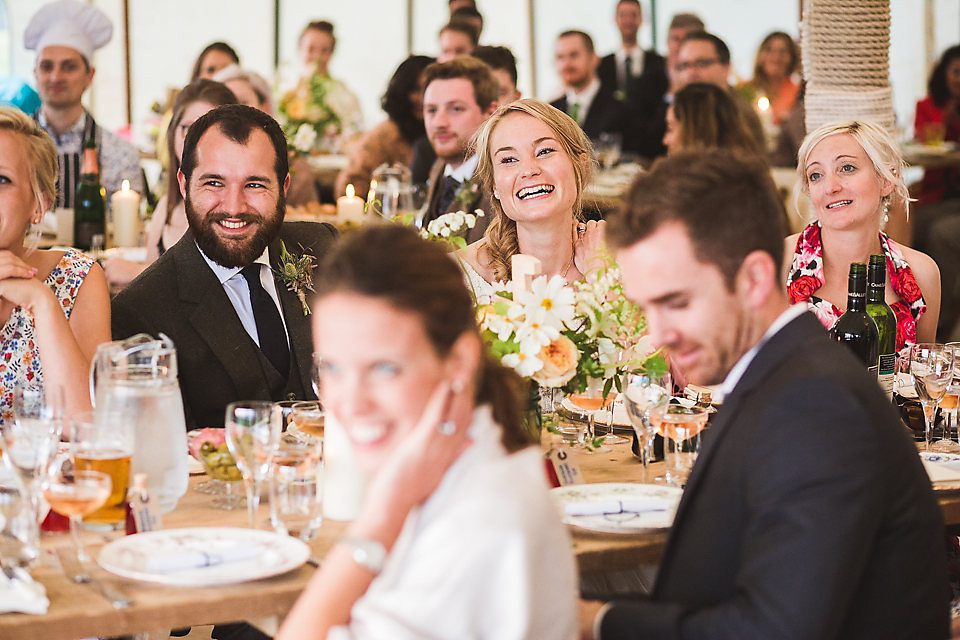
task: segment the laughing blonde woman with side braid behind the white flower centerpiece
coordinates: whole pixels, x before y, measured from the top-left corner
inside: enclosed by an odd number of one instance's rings
[[[590,140],[567,114],[524,99],[497,109],[477,132],[477,174],[493,195],[482,240],[457,252],[474,290],[509,280],[510,259],[540,260],[543,273],[566,282],[600,266],[603,222],[582,222],[590,181]]]

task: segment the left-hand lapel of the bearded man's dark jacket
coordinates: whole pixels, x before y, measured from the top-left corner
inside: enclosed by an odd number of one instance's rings
[[[175,252],[180,300],[193,306],[189,311],[190,323],[223,364],[234,386],[249,386],[250,372],[260,372],[262,376],[263,368],[257,345],[240,323],[223,285],[200,255],[189,231],[170,251]],[[266,378],[263,385],[267,387]]]

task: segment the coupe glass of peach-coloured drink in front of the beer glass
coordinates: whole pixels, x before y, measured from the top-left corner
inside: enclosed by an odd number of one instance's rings
[[[78,471],[69,455],[61,455],[44,476],[42,487],[50,508],[70,518],[70,537],[77,560],[81,565],[89,562],[90,556],[80,539],[80,519],[107,502],[112,487],[110,476],[100,471]],[[83,578],[79,575],[74,580],[83,582]]]

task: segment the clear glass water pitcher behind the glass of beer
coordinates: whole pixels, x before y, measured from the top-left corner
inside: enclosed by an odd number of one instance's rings
[[[147,474],[160,513],[187,491],[187,431],[173,341],[145,333],[97,348],[90,365],[90,396],[98,420],[133,423],[130,475]]]

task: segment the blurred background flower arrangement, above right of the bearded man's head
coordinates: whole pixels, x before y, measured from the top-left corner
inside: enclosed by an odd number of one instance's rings
[[[294,154],[336,153],[360,129],[356,97],[330,74],[301,78],[280,98],[277,120]]]

